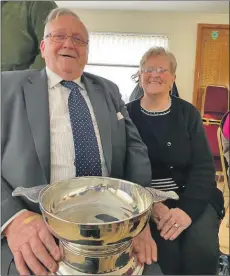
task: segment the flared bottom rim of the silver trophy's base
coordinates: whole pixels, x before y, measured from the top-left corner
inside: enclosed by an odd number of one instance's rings
[[[130,264],[127,266],[122,267],[119,270],[107,272],[105,274],[88,274],[88,273],[82,273],[81,271],[78,271],[76,269],[73,269],[68,264],[64,262],[59,262],[58,270],[55,274],[50,275],[97,275],[97,276],[105,276],[105,275],[142,275],[144,270],[144,265],[142,266],[135,266],[135,260],[133,261],[133,267],[130,267]]]

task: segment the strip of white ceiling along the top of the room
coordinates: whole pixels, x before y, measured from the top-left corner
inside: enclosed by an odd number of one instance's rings
[[[229,1],[55,1],[76,9],[229,13]]]

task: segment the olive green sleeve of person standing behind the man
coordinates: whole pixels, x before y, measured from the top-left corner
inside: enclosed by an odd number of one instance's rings
[[[43,39],[45,20],[50,11],[57,7],[54,1],[31,1],[30,9],[30,28],[36,40],[35,59],[31,64],[30,69],[42,69],[45,66],[45,61],[41,56],[40,42]]]

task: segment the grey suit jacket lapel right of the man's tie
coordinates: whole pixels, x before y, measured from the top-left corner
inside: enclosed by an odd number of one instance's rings
[[[82,76],[82,81],[85,85],[86,91],[89,95],[93,111],[97,120],[103,153],[105,156],[108,173],[111,173],[112,162],[112,143],[111,143],[111,125],[110,114],[106,101],[105,93],[102,87],[93,83],[92,79]]]

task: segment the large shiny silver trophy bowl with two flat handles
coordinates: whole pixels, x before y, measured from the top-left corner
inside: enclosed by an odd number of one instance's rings
[[[49,230],[59,239],[57,275],[141,275],[132,239],[148,223],[154,202],[178,199],[174,192],[108,177],[19,187],[12,195],[39,203]]]

